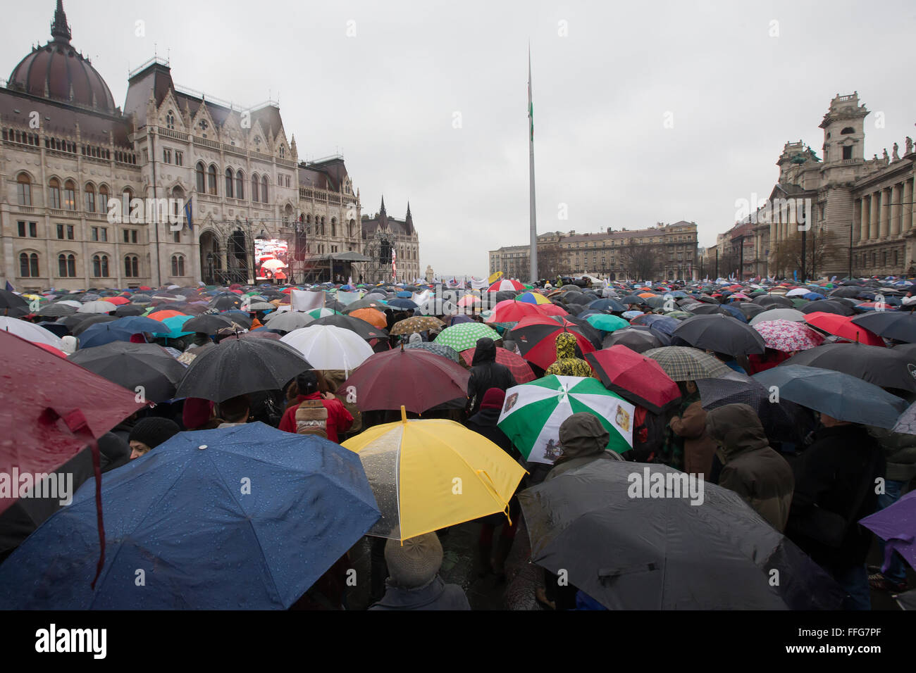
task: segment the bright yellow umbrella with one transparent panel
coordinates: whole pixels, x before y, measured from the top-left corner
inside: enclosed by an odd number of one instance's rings
[[[359,454],[382,512],[368,535],[406,540],[506,512],[525,470],[453,420],[401,420],[344,441]]]

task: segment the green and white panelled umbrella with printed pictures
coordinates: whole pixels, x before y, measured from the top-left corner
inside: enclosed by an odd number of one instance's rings
[[[633,448],[636,407],[595,378],[551,375],[509,388],[497,425],[525,460],[551,464],[562,453],[562,422],[580,411],[596,416],[610,433],[607,449]]]

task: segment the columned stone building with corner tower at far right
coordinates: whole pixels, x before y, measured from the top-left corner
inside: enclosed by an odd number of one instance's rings
[[[818,277],[916,273],[916,148],[907,137],[902,151],[894,143],[890,153],[885,148],[881,157],[866,158],[868,114],[858,92],[837,94],[820,124],[823,160],[802,141],[785,144],[769,201],[800,203],[804,214],[761,210],[736,224],[728,237],[733,249],[744,250],[744,277],[791,277],[797,269],[787,266],[780,246],[798,246],[802,221],[806,249],[818,240],[819,249],[828,245],[813,269]],[[812,269],[806,271],[810,276]]]

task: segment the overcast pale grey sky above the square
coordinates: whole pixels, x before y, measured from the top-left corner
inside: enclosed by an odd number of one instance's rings
[[[3,76],[49,39],[54,5],[5,7]],[[180,85],[241,104],[279,97],[300,158],[343,153],[364,212],[384,194],[403,217],[410,201],[421,268],[448,275],[483,275],[487,250],[528,241],[529,41],[540,233],[688,220],[714,244],[736,199],[769,195],[783,143],[823,157],[818,124],[836,93],[858,91],[873,113],[866,157],[916,135],[911,0],[64,9],[120,105],[154,44]]]

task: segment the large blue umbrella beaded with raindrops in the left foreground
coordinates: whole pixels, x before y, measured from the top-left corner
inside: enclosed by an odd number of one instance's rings
[[[352,451],[249,423],[181,432],[85,483],[0,566],[0,607],[264,610],[296,602],[379,517]],[[143,570],[145,586],[137,586]]]

